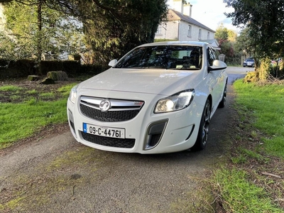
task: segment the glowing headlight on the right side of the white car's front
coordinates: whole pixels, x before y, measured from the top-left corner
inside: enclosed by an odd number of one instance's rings
[[[160,99],[155,105],[154,113],[163,113],[185,109],[185,107],[188,107],[190,105],[193,97],[195,97],[195,89],[188,89],[173,94],[172,96],[165,99]]]

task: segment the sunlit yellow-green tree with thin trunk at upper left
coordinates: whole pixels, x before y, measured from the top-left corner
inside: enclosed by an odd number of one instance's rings
[[[1,56],[41,59],[43,53],[60,55],[82,48],[82,24],[47,1],[25,0],[4,4],[6,31],[1,32]],[[80,50],[81,51],[81,50]]]

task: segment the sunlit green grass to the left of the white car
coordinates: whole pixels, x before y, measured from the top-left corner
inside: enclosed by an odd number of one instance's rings
[[[62,99],[55,102],[38,101],[31,98],[19,104],[0,103],[0,148],[7,146],[7,143],[32,136],[43,126],[49,124],[62,124],[67,121],[66,104],[70,89],[75,84],[58,89],[62,93]],[[5,86],[1,89],[13,92],[19,87]],[[36,94],[35,91],[30,91]],[[53,97],[53,93],[40,94],[42,97]],[[16,97],[16,96],[15,96]]]

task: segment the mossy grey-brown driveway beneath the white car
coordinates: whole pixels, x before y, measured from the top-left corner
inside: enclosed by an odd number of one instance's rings
[[[228,72],[227,105],[214,115],[204,151],[99,151],[61,126],[55,136],[0,153],[0,212],[213,212],[202,180],[226,159],[237,122],[231,81],[245,73],[242,67]]]

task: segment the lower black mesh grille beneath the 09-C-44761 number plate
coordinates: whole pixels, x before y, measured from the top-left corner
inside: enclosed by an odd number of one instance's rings
[[[93,134],[84,133],[81,131],[82,137],[85,141],[96,143],[102,146],[110,146],[116,148],[133,148],[135,139],[131,138],[109,138],[104,136],[95,136]]]

